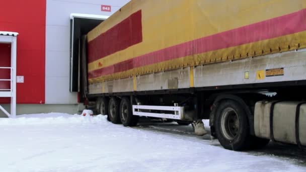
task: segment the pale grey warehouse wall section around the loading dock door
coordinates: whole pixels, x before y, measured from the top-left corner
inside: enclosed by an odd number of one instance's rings
[[[70,14],[110,16],[129,0],[47,0],[46,9],[46,104],[77,103],[77,93],[69,92]],[[112,6],[102,12],[101,5]]]

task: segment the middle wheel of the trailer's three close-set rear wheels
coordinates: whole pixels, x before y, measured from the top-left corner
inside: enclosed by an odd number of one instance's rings
[[[112,97],[108,104],[108,118],[114,124],[120,124],[120,115],[119,115],[119,100],[118,98]]]

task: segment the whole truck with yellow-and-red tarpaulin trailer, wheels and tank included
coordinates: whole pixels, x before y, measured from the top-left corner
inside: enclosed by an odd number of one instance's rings
[[[113,123],[166,118],[203,135],[209,119],[226,149],[306,145],[305,0],[132,0],[83,49],[85,97]]]

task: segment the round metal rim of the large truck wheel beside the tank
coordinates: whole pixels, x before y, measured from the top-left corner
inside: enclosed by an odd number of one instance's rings
[[[227,140],[233,140],[239,132],[240,122],[237,112],[232,108],[226,108],[222,112],[221,131]]]

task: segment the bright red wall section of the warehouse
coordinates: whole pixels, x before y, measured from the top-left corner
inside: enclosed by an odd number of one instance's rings
[[[3,3],[0,6],[0,31],[19,33],[17,75],[24,76],[24,83],[17,83],[17,103],[44,103],[46,0]],[[3,101],[0,99],[0,103]]]

